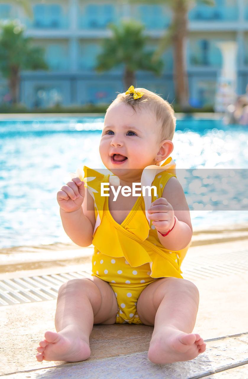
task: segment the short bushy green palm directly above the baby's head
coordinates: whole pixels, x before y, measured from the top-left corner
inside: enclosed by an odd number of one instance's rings
[[[136,71],[147,70],[159,75],[163,62],[153,58],[153,52],[147,51],[148,38],[143,35],[144,26],[132,20],[120,25],[109,25],[112,36],[103,42],[103,50],[97,56],[98,72],[124,65],[123,82],[125,88],[136,85]]]

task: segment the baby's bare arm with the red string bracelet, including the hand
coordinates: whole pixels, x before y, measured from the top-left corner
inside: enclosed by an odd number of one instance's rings
[[[168,180],[162,197],[152,203],[148,213],[153,225],[162,234],[166,234],[173,228],[164,237],[158,232],[159,240],[166,249],[177,251],[190,243],[192,225],[189,207],[182,186],[175,177]]]

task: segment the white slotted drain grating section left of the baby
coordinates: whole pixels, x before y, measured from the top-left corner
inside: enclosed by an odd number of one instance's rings
[[[0,306],[56,299],[62,283],[87,276],[88,273],[77,271],[0,280]]]

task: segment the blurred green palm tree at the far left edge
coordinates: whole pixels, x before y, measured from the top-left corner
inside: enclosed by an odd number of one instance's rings
[[[48,69],[44,52],[32,47],[31,39],[23,37],[19,23],[9,22],[0,27],[0,71],[8,79],[12,104],[19,100],[20,71]]]

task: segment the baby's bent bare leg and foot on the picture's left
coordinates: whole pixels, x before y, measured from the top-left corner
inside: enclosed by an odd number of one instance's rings
[[[114,291],[107,282],[97,277],[69,280],[58,293],[57,333],[45,333],[37,360],[78,362],[89,358],[93,324],[114,324],[117,309]]]

